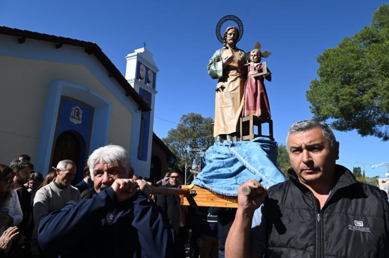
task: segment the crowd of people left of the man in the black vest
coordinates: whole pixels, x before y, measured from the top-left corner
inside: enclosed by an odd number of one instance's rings
[[[216,254],[209,257],[217,257],[217,225],[207,221],[207,209],[184,208],[176,195],[153,196],[152,183],[134,174],[120,146],[95,150],[77,184],[77,165],[71,160],[60,161],[45,178],[33,169],[27,155],[9,167],[0,165],[0,257],[187,257],[193,227],[197,241],[191,257],[208,249]],[[172,171],[156,185],[179,187],[181,182],[182,176]],[[109,249],[90,249],[102,240],[95,239],[98,235],[104,235]]]

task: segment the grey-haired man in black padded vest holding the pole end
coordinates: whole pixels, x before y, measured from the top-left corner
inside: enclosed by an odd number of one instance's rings
[[[238,188],[226,257],[389,257],[388,198],[335,164],[339,142],[328,125],[294,123],[287,149],[288,180],[268,190],[245,182],[255,197]]]

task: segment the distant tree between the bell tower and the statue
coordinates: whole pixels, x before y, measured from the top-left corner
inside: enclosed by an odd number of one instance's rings
[[[177,157],[176,167],[185,171],[185,151],[190,149],[208,149],[214,143],[213,120],[200,114],[188,113],[183,115],[176,129],[170,129],[168,136],[162,141]]]

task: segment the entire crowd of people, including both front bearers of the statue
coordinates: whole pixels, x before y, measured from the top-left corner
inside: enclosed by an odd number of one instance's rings
[[[287,148],[288,180],[269,189],[248,180],[237,209],[152,195],[117,145],[96,149],[80,182],[71,160],[43,178],[21,155],[0,164],[0,257],[389,257],[387,195],[335,164],[327,124],[293,124]],[[170,171],[153,187],[182,179]]]

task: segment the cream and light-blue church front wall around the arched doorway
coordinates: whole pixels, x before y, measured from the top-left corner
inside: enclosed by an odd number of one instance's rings
[[[141,112],[136,112],[136,103],[125,96],[123,88],[108,77],[108,71],[93,55],[88,56],[80,47],[64,45],[61,49],[55,49],[53,43],[37,40],[27,39],[25,43],[18,44],[16,38],[1,35],[0,63],[0,115],[3,119],[0,123],[0,140],[7,146],[6,150],[0,150],[0,162],[7,164],[22,153],[30,155],[34,164],[38,162],[37,152],[45,129],[43,127],[53,126],[44,124],[42,127],[42,123],[47,113],[55,115],[53,110],[45,112],[47,102],[50,102],[47,100],[58,95],[55,90],[48,92],[50,87],[58,88],[55,82],[60,81],[78,88],[84,87],[84,98],[88,94],[104,96],[110,106],[101,112],[103,115],[112,114],[107,119],[108,133],[103,136],[104,144],[115,143],[125,147],[135,167]],[[71,90],[71,87],[64,87],[64,94],[65,89]],[[52,104],[55,103],[52,101]],[[92,146],[90,153],[99,147],[91,142]],[[47,164],[41,165],[43,168],[47,169]]]

